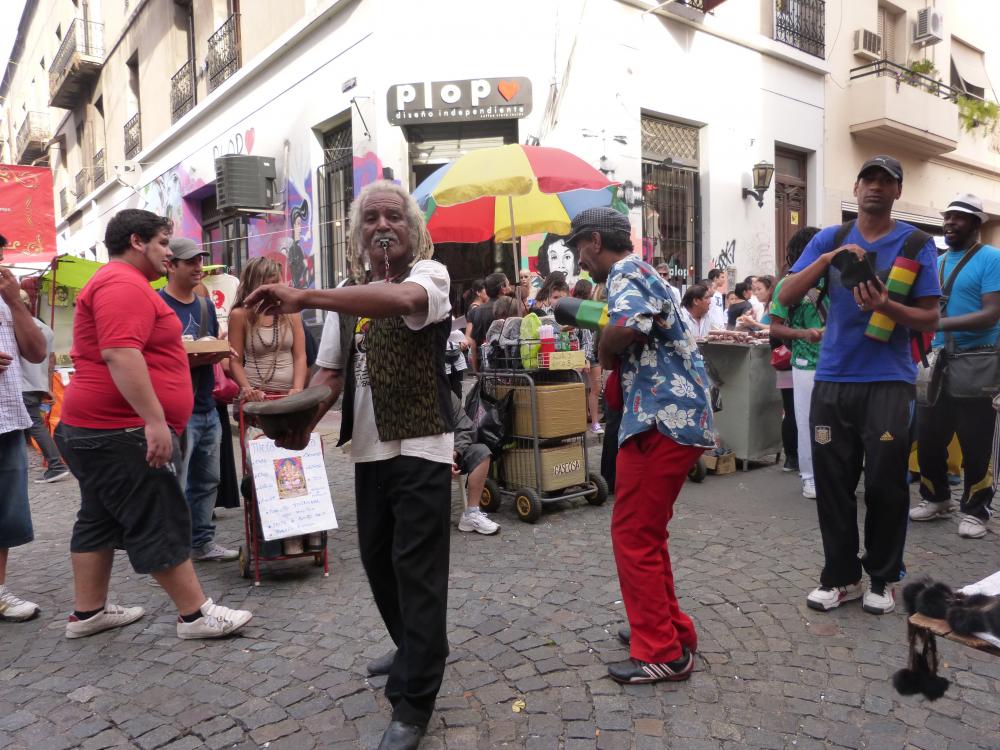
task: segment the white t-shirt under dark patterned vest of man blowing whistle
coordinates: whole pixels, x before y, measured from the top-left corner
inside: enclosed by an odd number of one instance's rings
[[[448,277],[448,269],[442,264],[434,260],[418,261],[413,265],[409,277],[402,283],[420,284],[427,292],[427,312],[403,316],[403,322],[410,330],[419,331],[421,328],[447,319],[451,314],[451,302],[448,299],[451,280]],[[351,435],[351,461],[366,463],[384,461],[396,456],[410,456],[451,465],[455,441],[454,435],[450,432],[387,442],[378,439],[378,429],[375,426],[375,405],[372,400],[367,357],[363,347],[367,326],[367,318],[358,320],[352,342],[354,346],[354,429]],[[340,316],[337,313],[329,313],[323,323],[323,336],[316,354],[316,364],[329,370],[343,370],[346,363],[347,351],[340,341]],[[399,376],[405,377],[406,373],[399,373]]]

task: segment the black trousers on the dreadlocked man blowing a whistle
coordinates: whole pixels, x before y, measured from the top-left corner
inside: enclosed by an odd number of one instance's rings
[[[451,466],[397,456],[354,466],[361,562],[396,644],[392,718],[426,726],[448,656]]]

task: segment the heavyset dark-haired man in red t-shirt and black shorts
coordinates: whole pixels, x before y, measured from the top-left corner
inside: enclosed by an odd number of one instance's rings
[[[115,549],[177,605],[179,638],[243,627],[245,610],[206,598],[191,563],[191,514],[178,476],[178,436],[193,393],[177,315],[149,286],[170,259],[170,223],[126,209],[104,235],[111,261],[80,292],[73,364],[56,441],[80,482],[73,525],[75,610],[67,638],[135,622],[142,607],[107,601]]]

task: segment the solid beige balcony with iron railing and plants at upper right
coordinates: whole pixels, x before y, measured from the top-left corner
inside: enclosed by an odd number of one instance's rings
[[[920,156],[958,148],[961,92],[888,60],[851,70],[851,133]]]

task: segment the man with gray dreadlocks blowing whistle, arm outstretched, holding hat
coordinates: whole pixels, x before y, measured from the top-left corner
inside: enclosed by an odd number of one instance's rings
[[[269,285],[247,305],[327,316],[313,385],[344,393],[340,444],[351,441],[361,561],[397,647],[380,750],[416,748],[448,655],[448,540],[454,429],[445,375],[448,271],[403,188],[368,185],[350,214],[354,278],[337,289]],[[318,419],[318,417],[317,417]],[[278,445],[300,449],[310,430]]]

